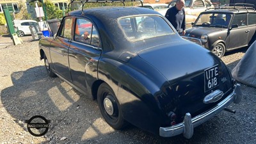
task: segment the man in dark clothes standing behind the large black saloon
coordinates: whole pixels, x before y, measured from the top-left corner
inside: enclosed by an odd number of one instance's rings
[[[169,8],[165,14],[172,26],[178,31],[180,35],[185,35],[186,31],[186,20],[184,10],[185,0],[177,0],[175,6]]]

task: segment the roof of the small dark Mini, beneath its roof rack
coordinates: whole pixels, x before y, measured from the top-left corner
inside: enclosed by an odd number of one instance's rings
[[[220,8],[209,8],[202,13],[256,13],[253,8],[248,7],[234,7],[234,6],[225,6]]]

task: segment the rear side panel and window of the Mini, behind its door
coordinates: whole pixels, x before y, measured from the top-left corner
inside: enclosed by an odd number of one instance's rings
[[[252,44],[256,40],[256,13],[248,13],[248,44]]]

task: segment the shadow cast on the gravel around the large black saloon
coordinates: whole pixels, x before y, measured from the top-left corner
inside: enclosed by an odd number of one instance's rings
[[[11,78],[13,86],[1,91],[4,108],[19,120],[28,120],[35,115],[42,115],[47,120],[61,120],[46,134],[52,143],[227,143],[225,138],[230,135],[225,131],[234,131],[223,125],[232,118],[227,112],[197,127],[190,140],[182,134],[161,138],[132,125],[116,131],[104,122],[95,100],[86,98],[58,77],[48,77],[43,66],[13,72]],[[230,125],[239,123],[234,118],[228,122]],[[67,140],[61,141],[63,136]]]

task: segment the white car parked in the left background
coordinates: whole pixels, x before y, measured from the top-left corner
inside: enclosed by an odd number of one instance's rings
[[[38,22],[36,20],[13,20],[14,28],[19,37],[31,35],[29,26],[36,26],[39,31]]]

